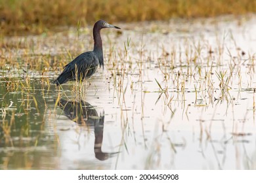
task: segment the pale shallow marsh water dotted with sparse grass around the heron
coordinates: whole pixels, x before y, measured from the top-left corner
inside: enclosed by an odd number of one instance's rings
[[[6,38],[25,46],[1,49],[0,169],[255,169],[255,23],[103,30],[105,69],[82,96],[74,82],[51,84],[61,70],[51,57],[91,50],[88,29]],[[49,67],[31,66],[37,57]]]

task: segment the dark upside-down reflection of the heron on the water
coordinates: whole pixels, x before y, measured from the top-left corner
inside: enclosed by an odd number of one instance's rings
[[[102,152],[102,140],[103,140],[103,129],[104,129],[104,114],[98,116],[95,108],[89,103],[80,101],[66,101],[60,99],[58,106],[62,108],[65,115],[70,120],[76,122],[79,125],[86,125],[87,127],[94,127],[95,131],[95,158],[99,160],[106,160],[112,157],[115,153]]]

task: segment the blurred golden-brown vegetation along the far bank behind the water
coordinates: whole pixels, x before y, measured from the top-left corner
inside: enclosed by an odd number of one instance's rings
[[[42,33],[53,27],[256,12],[255,0],[0,0],[3,35]]]

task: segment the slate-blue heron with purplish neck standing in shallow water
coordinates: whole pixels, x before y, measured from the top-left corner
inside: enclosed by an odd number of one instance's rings
[[[65,65],[64,71],[62,71],[53,83],[58,86],[69,80],[84,80],[90,78],[95,73],[98,65],[104,67],[100,29],[111,27],[120,29],[119,27],[108,24],[104,20],[98,20],[93,27],[93,39],[95,41],[93,51],[85,52]]]

